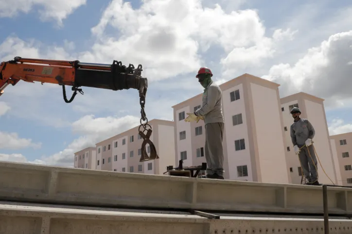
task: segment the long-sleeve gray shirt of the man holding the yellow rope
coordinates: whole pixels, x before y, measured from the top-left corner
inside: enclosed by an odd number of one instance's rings
[[[303,146],[305,141],[313,139],[316,131],[313,125],[306,118],[300,118],[297,122],[293,122],[290,128],[292,144]]]

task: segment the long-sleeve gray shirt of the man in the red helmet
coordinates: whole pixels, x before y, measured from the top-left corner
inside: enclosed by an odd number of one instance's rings
[[[202,106],[194,111],[196,116],[204,116],[204,124],[223,123],[222,92],[213,81],[204,89]]]

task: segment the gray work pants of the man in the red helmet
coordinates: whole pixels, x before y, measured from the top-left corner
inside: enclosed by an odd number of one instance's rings
[[[207,161],[207,174],[216,173],[224,176],[223,151],[224,123],[207,123],[205,125],[205,159]]]

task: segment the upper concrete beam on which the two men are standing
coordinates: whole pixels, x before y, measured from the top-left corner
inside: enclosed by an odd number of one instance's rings
[[[322,187],[0,162],[0,200],[197,210],[323,213]],[[330,214],[352,214],[352,188],[329,187]]]

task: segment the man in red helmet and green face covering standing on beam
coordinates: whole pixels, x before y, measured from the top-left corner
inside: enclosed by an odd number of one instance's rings
[[[199,121],[205,123],[205,159],[207,161],[207,176],[211,179],[224,180],[224,116],[222,112],[222,91],[219,85],[212,80],[211,69],[201,67],[195,76],[198,82],[204,87],[202,106],[187,113],[185,121]]]

